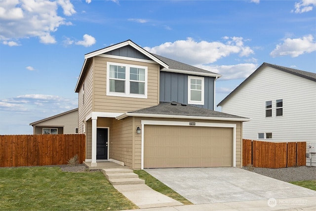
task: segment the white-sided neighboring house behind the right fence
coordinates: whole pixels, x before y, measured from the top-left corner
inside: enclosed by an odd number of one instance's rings
[[[316,144],[316,73],[263,63],[217,106],[250,118],[245,139]],[[313,144],[313,143],[312,143]],[[307,165],[316,166],[316,153]]]

